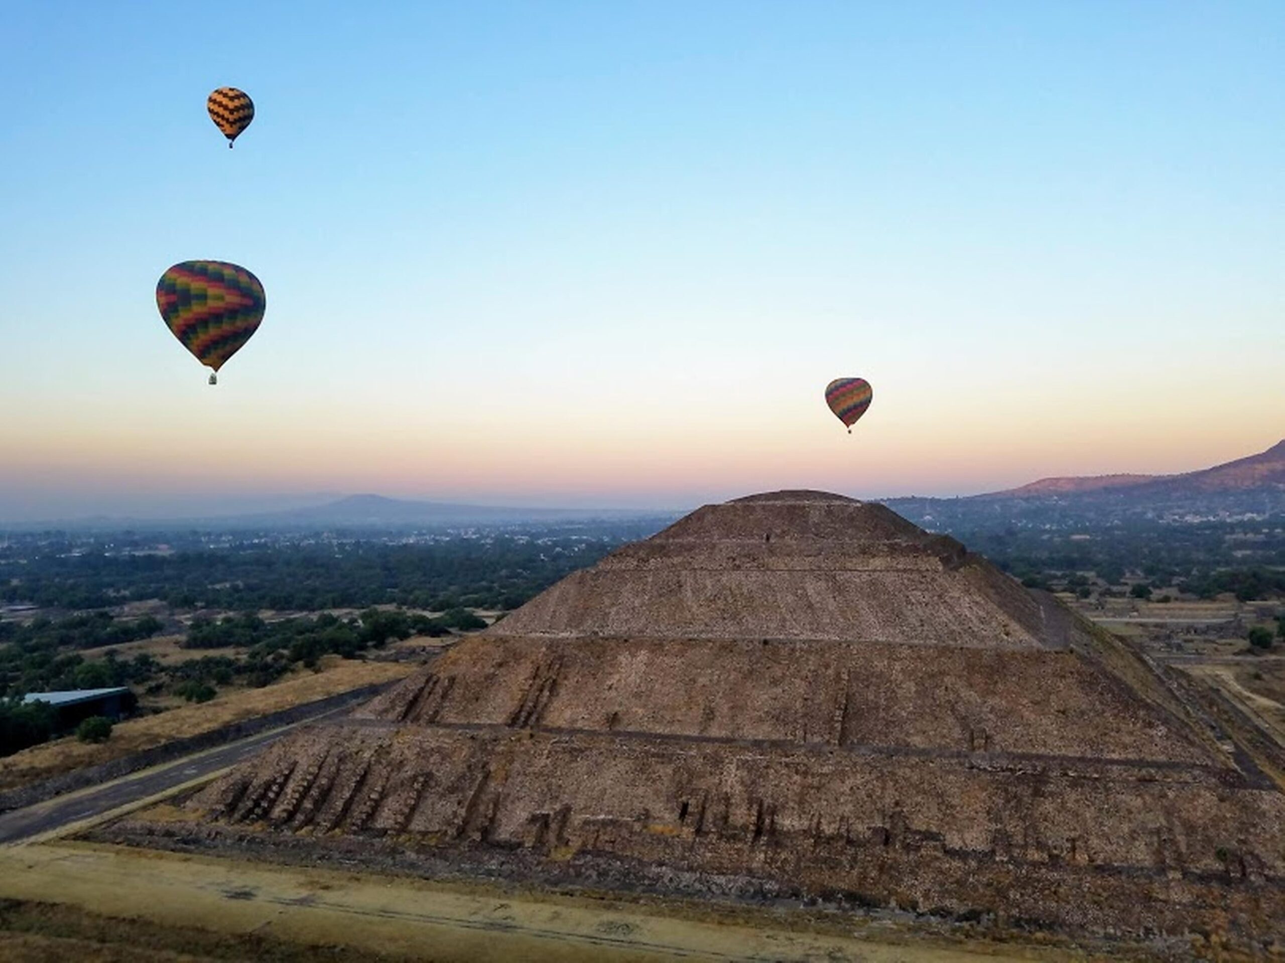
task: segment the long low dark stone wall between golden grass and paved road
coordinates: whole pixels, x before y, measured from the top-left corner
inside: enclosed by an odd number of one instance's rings
[[[319,698],[312,702],[303,702],[302,705],[292,706],[290,709],[281,709],[280,711],[269,713],[267,715],[242,719],[240,722],[231,723],[230,725],[224,725],[217,729],[211,729],[209,732],[202,732],[197,736],[189,736],[186,738],[166,742],[163,745],[154,746],[153,749],[135,752],[134,755],[113,759],[109,763],[76,769],[62,776],[55,776],[50,779],[31,783],[30,786],[19,786],[18,788],[0,792],[0,813],[6,813],[10,809],[22,809],[23,806],[35,805],[36,802],[44,802],[46,799],[62,796],[64,792],[81,790],[86,786],[96,786],[100,782],[118,779],[120,777],[128,776],[139,769],[161,765],[162,763],[168,763],[191,752],[199,752],[204,749],[212,749],[226,742],[234,742],[236,740],[247,738],[248,736],[258,734],[266,729],[274,729],[279,725],[289,725],[290,723],[308,719],[314,715],[321,715],[335,709],[357,705],[359,702],[379,695],[393,684],[393,682],[379,682],[371,686],[362,686],[361,688],[341,692],[335,696],[326,696],[325,698]]]

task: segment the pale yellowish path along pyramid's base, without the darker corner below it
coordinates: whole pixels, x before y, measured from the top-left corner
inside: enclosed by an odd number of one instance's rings
[[[71,904],[163,926],[258,933],[428,960],[862,960],[978,963],[1067,959],[1031,946],[968,948],[660,915],[573,896],[452,889],[418,880],[100,846],[0,851],[0,896]],[[870,926],[874,930],[875,924]]]

